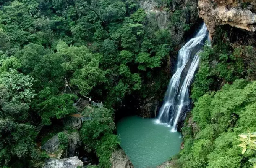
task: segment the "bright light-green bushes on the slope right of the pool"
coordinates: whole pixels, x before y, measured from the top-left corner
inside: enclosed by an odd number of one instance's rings
[[[200,97],[192,110],[196,130],[183,130],[180,167],[247,168],[255,154],[241,155],[237,136],[256,129],[255,98],[256,82],[241,79]]]

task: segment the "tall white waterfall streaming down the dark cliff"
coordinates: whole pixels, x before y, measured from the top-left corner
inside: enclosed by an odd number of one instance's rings
[[[207,40],[207,34],[207,27],[203,24],[196,36],[190,39],[178,52],[177,68],[170,79],[157,119],[157,123],[167,123],[172,126],[172,132],[177,130],[177,124],[182,116],[181,114],[189,109],[190,99],[188,89],[198,67],[198,54],[204,42]],[[183,76],[185,76],[184,79],[182,79]],[[181,86],[180,82],[182,82]]]

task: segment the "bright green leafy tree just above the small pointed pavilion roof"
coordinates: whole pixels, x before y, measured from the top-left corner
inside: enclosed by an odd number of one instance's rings
[[[58,56],[62,57],[66,77],[71,78],[71,84],[78,86],[81,94],[87,95],[91,90],[105,81],[105,73],[99,68],[102,59],[100,54],[92,54],[85,46],[68,46],[60,41],[57,46]]]

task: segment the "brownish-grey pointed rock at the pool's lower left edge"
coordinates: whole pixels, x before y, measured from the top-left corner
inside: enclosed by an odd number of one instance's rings
[[[110,158],[111,168],[134,168],[123,149],[116,149]]]

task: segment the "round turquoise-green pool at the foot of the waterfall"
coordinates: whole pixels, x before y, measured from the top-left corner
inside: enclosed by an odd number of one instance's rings
[[[117,123],[121,147],[135,168],[156,168],[180,151],[182,141],[171,127],[155,124],[155,119],[126,117]]]

